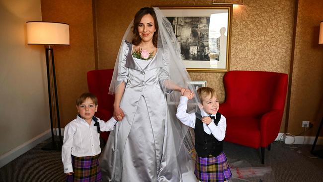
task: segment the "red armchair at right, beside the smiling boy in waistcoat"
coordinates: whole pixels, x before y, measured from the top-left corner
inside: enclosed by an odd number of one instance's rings
[[[219,112],[227,118],[225,141],[270,150],[279,132],[287,92],[287,74],[230,71],[224,76],[226,100]]]

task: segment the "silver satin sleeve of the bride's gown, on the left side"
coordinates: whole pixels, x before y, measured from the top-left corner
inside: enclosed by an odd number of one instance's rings
[[[122,82],[125,82],[127,84],[128,82],[128,68],[126,67],[127,62],[127,56],[129,53],[131,43],[124,41],[122,43],[122,52],[119,57],[119,63],[118,63],[118,75],[115,82],[115,88],[117,88]]]

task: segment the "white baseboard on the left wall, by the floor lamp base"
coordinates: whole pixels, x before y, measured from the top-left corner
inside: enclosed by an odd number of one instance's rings
[[[47,140],[51,137],[51,130],[47,130],[34,138],[30,139],[29,141],[19,145],[18,147],[10,150],[9,152],[0,156],[0,168],[4,165],[8,164],[15,158],[19,157],[20,155],[24,154],[28,150],[34,148],[37,144]]]

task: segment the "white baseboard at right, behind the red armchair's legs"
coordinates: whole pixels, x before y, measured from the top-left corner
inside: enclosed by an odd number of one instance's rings
[[[277,138],[275,141],[284,139],[286,136],[283,136],[284,133],[278,133]],[[305,141],[304,141],[305,140]],[[285,138],[285,144],[307,144],[307,145],[313,145],[315,140],[315,136],[287,136]],[[323,137],[319,137],[318,141],[316,143],[317,145],[323,145]]]

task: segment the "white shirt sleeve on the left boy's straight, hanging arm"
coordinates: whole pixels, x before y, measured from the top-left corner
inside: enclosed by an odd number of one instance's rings
[[[64,173],[73,172],[72,166],[72,146],[76,127],[72,123],[66,125],[64,129],[64,141],[62,146],[62,161],[64,166]]]

